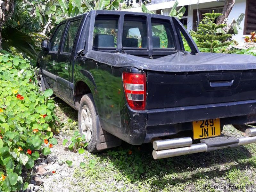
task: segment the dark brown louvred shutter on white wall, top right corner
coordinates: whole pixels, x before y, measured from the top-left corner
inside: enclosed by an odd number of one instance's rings
[[[256,1],[247,0],[244,20],[244,35],[249,35],[251,32],[256,31]]]

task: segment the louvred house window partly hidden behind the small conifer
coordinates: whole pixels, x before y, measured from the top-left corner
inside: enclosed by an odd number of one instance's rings
[[[193,10],[193,30],[194,31],[197,31],[197,26],[204,17],[203,14],[212,13],[212,11],[214,11],[215,13],[222,13],[223,7],[211,7],[211,8],[205,8],[205,9]]]

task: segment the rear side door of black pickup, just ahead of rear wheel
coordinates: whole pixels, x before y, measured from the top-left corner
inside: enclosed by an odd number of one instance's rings
[[[71,104],[74,104],[73,97],[70,94],[72,90],[72,87],[70,86],[71,56],[80,20],[81,18],[76,18],[69,21],[66,33],[63,37],[63,44],[58,55],[56,68],[59,95]]]

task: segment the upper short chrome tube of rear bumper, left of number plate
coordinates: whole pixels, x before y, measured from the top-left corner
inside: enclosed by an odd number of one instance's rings
[[[186,147],[190,145],[192,145],[191,137],[153,141],[154,150],[172,149],[178,147]]]

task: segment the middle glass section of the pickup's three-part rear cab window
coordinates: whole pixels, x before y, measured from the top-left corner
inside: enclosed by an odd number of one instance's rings
[[[145,18],[125,16],[122,46],[126,48],[147,48],[147,27]]]

